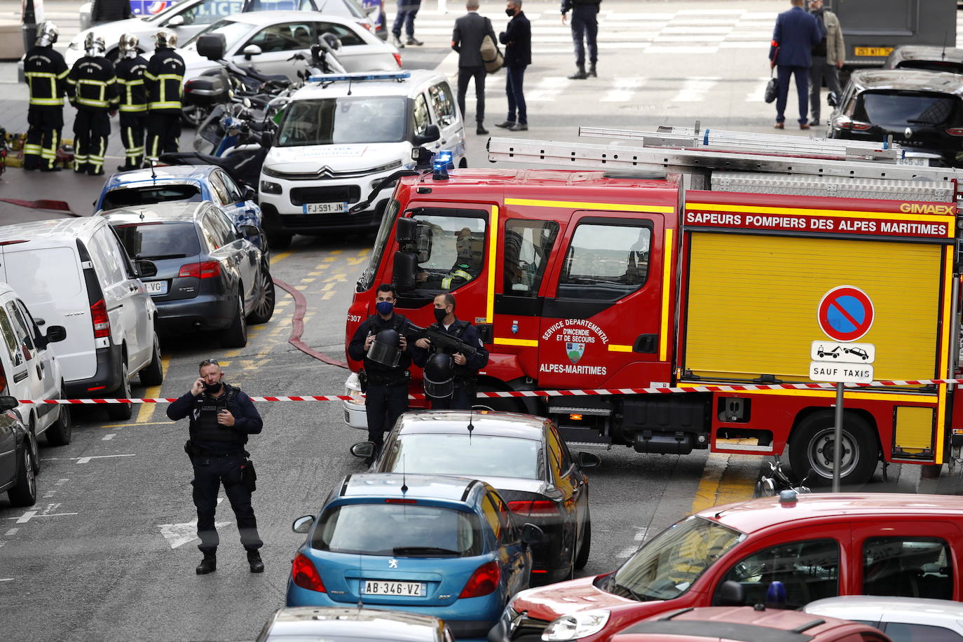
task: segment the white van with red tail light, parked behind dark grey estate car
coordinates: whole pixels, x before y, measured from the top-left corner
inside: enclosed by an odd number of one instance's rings
[[[0,280],[38,325],[65,328],[54,351],[67,398],[130,398],[135,372],[145,386],[161,384],[157,307],[139,277],[156,270],[149,261],[135,267],[101,217],[0,227]],[[130,419],[131,404],[110,404],[107,413]]]

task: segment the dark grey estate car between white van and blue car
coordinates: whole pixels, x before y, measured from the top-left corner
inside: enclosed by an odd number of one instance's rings
[[[225,347],[247,345],[247,322],[274,312],[274,282],[258,249],[257,227],[243,230],[211,202],[156,203],[101,213],[135,260],[157,275],[143,279],[167,334],[218,330]]]

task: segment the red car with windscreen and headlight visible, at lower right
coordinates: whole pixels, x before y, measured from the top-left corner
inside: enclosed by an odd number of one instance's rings
[[[491,642],[596,642],[677,608],[837,595],[963,601],[963,497],[800,495],[716,506],[676,523],[618,570],[516,595]]]

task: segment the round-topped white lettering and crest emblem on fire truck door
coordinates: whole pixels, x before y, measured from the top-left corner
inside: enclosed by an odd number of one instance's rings
[[[545,361],[538,366],[538,372],[603,376],[608,373],[605,366],[590,365],[603,359],[609,345],[609,335],[591,321],[565,319],[553,323],[542,333],[541,342]]]

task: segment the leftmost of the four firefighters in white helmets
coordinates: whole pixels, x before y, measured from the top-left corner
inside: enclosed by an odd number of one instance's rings
[[[37,44],[23,60],[23,75],[30,85],[27,111],[27,140],[23,145],[23,168],[60,171],[57,145],[64,129],[66,77],[70,73],[64,57],[54,51],[60,32],[53,22],[42,23]]]

